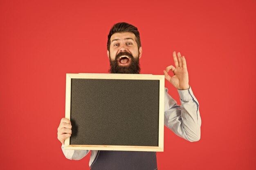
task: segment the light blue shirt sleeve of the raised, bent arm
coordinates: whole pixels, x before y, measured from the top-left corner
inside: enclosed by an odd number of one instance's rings
[[[201,134],[201,118],[199,104],[191,87],[178,90],[181,106],[167,93],[164,96],[164,125],[176,135],[188,141],[198,141]]]

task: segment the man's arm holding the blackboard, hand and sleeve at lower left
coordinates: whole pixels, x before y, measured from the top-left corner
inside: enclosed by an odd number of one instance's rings
[[[87,155],[90,150],[65,150],[64,149],[65,139],[70,137],[72,134],[71,128],[72,126],[71,126],[70,120],[66,118],[62,118],[61,123],[58,126],[58,140],[61,141],[62,143],[61,149],[67,159],[79,160],[85,157],[85,155]]]

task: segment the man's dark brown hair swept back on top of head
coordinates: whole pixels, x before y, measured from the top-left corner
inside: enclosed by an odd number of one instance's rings
[[[124,32],[133,33],[135,35],[135,41],[137,42],[138,49],[139,49],[139,47],[141,47],[139,31],[138,31],[137,27],[135,27],[131,24],[128,24],[126,22],[119,22],[119,23],[113,25],[112,28],[109,31],[108,44],[107,44],[108,51],[110,49],[110,38],[111,38],[111,36],[114,33],[124,33]]]

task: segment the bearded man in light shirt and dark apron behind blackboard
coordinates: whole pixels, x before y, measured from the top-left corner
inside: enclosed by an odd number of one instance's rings
[[[139,59],[142,48],[138,29],[128,23],[117,23],[108,35],[107,55],[110,73],[139,74]],[[173,52],[174,66],[164,70],[165,78],[177,88],[181,106],[167,93],[164,97],[164,125],[176,135],[188,140],[200,139],[201,118],[199,104],[191,87],[186,60],[180,53]],[[173,76],[168,75],[168,71]],[[90,150],[64,150],[64,140],[71,136],[71,122],[62,118],[58,127],[58,140],[67,159],[79,160]],[[156,152],[92,150],[89,166],[91,170],[157,170]]]

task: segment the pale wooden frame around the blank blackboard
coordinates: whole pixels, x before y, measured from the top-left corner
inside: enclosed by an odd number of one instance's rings
[[[159,80],[159,136],[158,146],[110,146],[110,145],[70,145],[70,138],[65,140],[65,149],[72,150],[127,150],[127,151],[164,151],[164,75],[143,74],[95,74],[79,73],[66,75],[65,117],[70,120],[71,79],[141,79]]]

